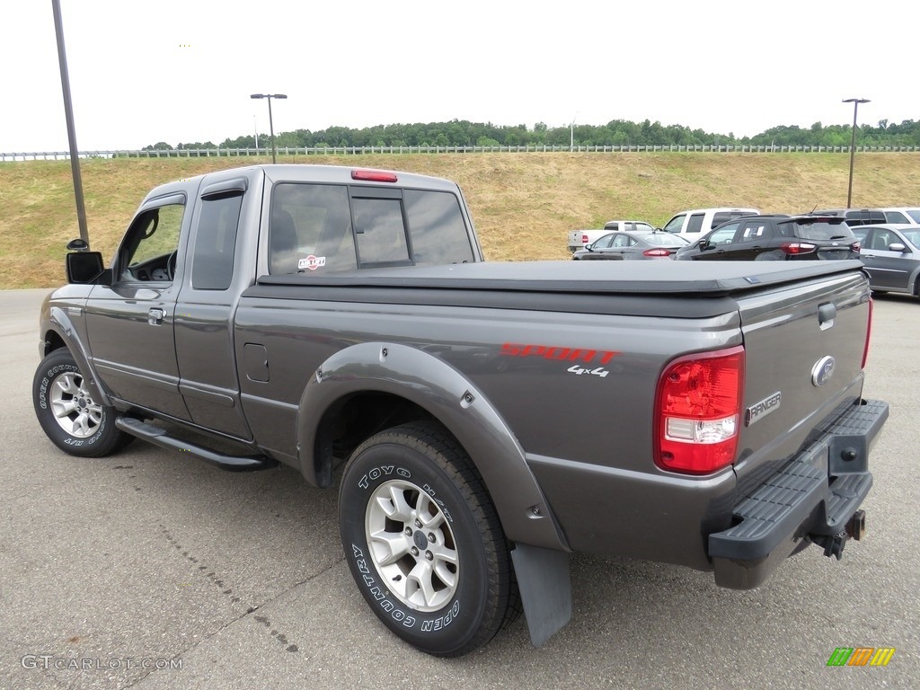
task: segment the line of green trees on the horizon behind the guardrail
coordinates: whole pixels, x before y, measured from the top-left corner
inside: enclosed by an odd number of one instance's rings
[[[533,128],[495,125],[491,122],[454,120],[415,124],[380,124],[364,129],[329,127],[325,130],[294,130],[275,135],[280,148],[327,148],[370,146],[668,146],[668,145],[762,145],[762,146],[844,146],[850,145],[850,125],[828,125],[815,122],[804,129],[798,125],[772,127],[754,136],[738,138],[733,133],[717,134],[691,130],[682,125],[664,126],[661,122],[631,122],[612,120],[604,125],[579,124],[574,128],[549,127],[537,122]],[[144,146],[144,151],[175,149],[257,148],[255,134],[213,142],[179,143],[176,146],[157,142]],[[259,136],[259,148],[269,149],[267,134]],[[859,146],[920,147],[920,121],[905,120],[901,124],[887,120],[878,126],[857,128]]]

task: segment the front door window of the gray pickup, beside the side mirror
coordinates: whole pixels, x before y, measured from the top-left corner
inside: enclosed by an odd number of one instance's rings
[[[184,203],[169,203],[134,219],[119,251],[119,280],[172,281],[184,214]]]

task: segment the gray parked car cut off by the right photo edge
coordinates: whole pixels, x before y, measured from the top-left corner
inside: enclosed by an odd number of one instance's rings
[[[920,297],[920,225],[862,225],[853,233],[874,292]]]

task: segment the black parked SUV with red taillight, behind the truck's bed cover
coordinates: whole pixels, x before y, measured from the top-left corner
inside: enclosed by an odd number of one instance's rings
[[[858,259],[859,239],[841,216],[748,216],[719,225],[674,259],[786,261]]]

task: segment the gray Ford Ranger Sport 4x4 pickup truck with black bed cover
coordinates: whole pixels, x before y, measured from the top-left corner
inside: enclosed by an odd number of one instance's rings
[[[40,316],[48,438],[134,438],[339,491],[345,558],[420,650],[571,614],[569,554],[753,588],[865,529],[858,261],[482,260],[457,186],[256,166],[157,187]]]

